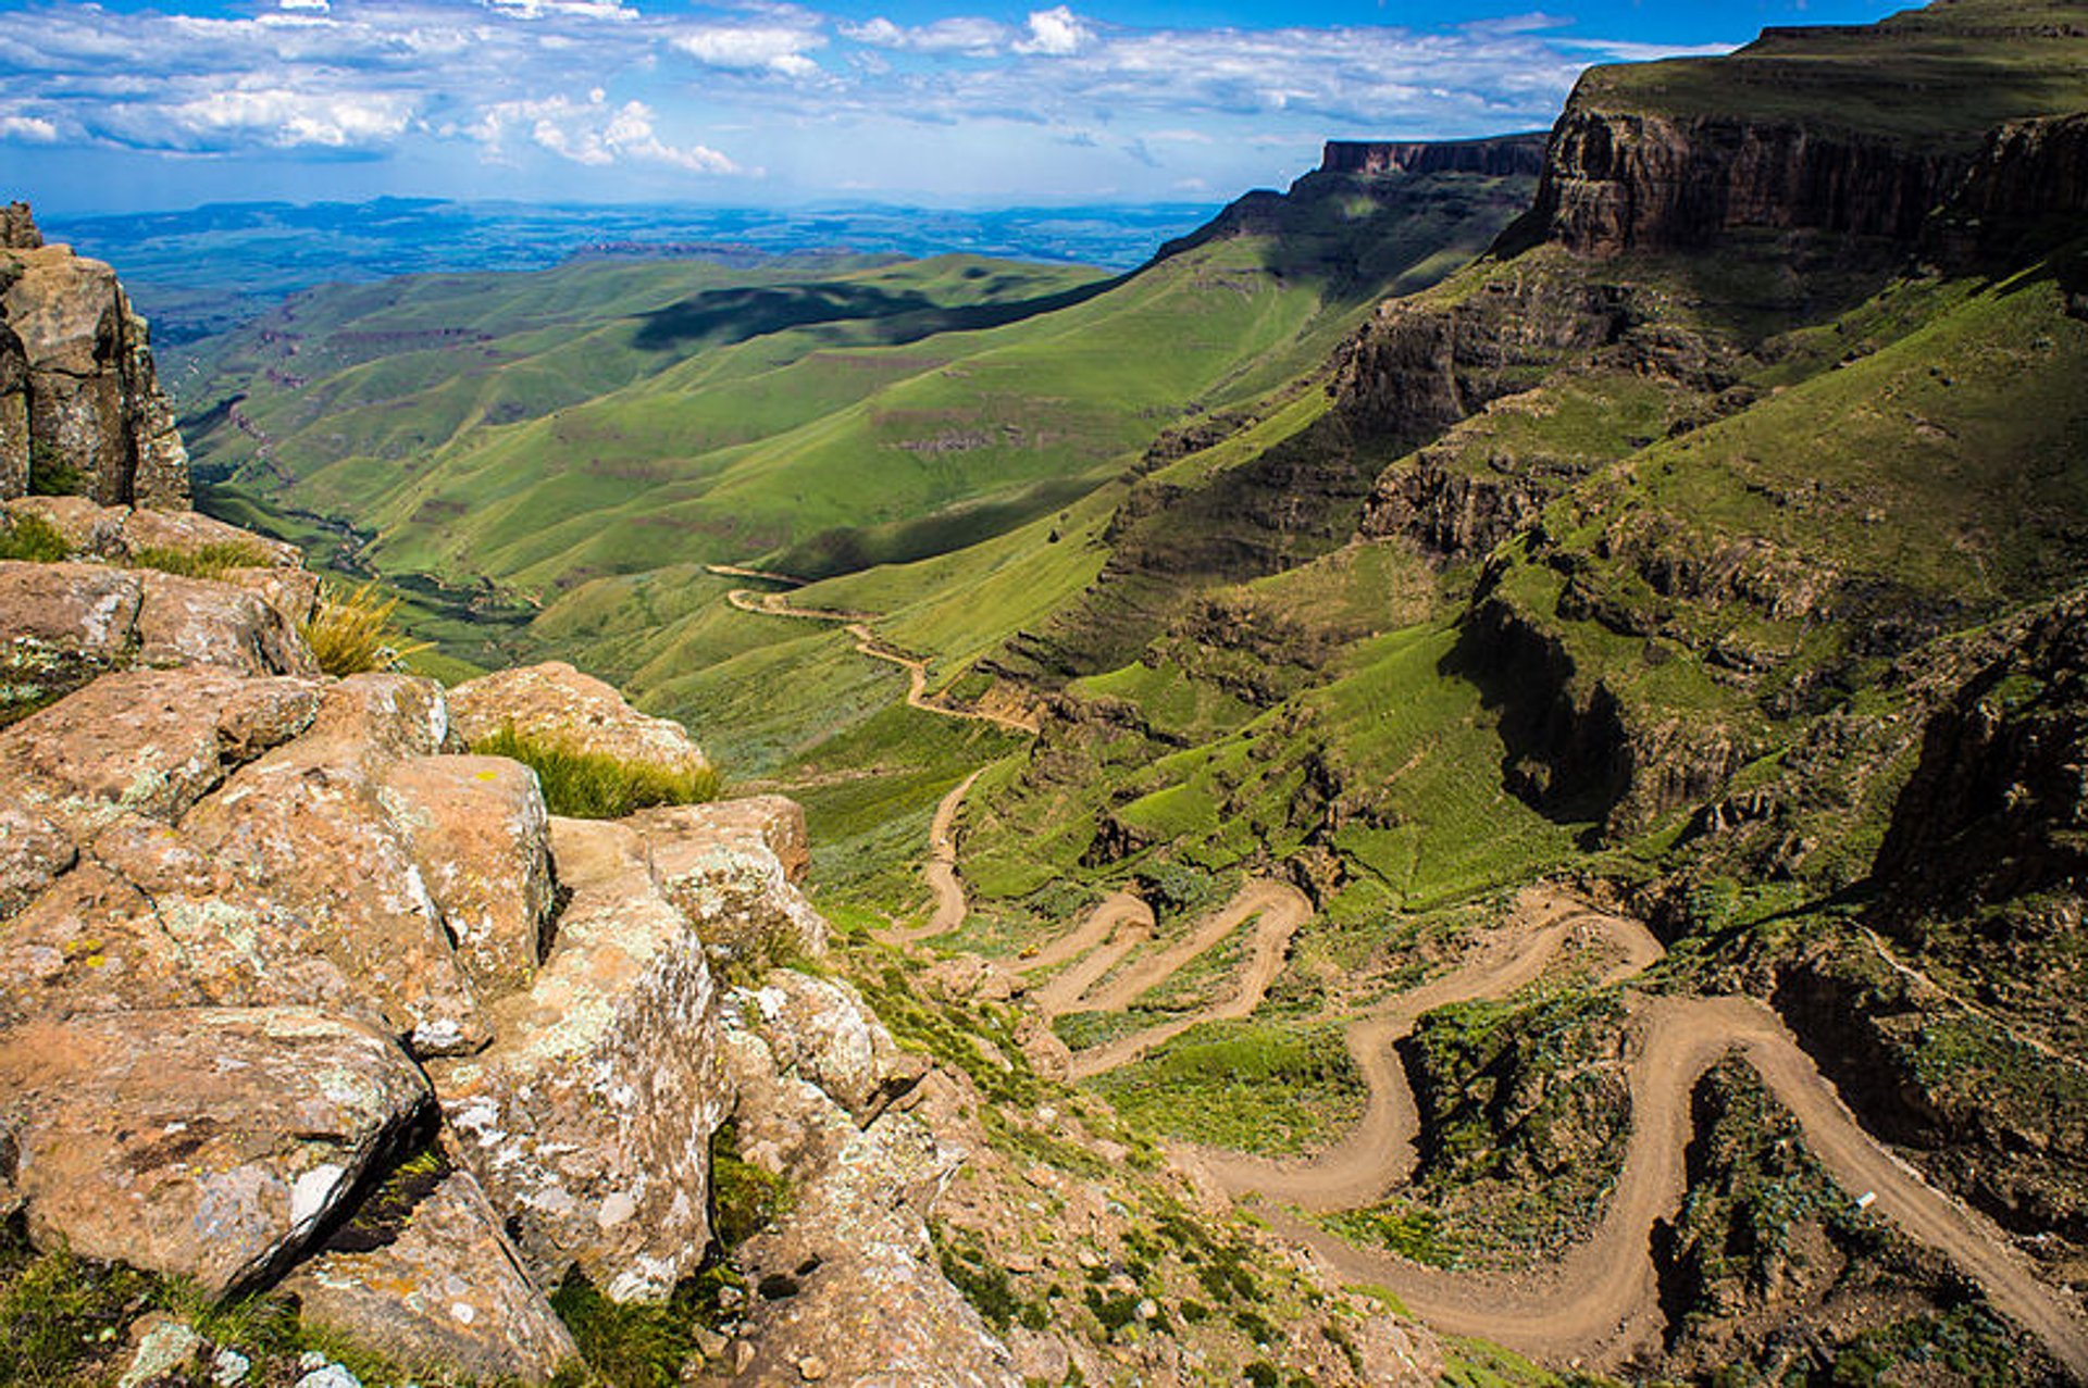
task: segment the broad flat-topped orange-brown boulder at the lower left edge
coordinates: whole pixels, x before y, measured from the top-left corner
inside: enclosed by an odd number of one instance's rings
[[[184,1008],[0,1033],[0,1127],[40,1246],[251,1286],[422,1112],[384,1035],[307,1008]]]

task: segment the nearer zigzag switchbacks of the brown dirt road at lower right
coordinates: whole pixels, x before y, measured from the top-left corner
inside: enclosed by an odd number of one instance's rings
[[[1130,1064],[1153,1046],[1201,1021],[1247,1016],[1282,968],[1295,931],[1311,908],[1286,902],[1278,883],[1249,883],[1221,912],[1153,960],[1134,964],[1102,994],[1088,989],[1142,943],[1134,914],[1119,908],[1098,920],[1098,908],[1067,939],[1050,946],[1052,962],[1086,960],[1040,989],[1046,1014],[1123,1010],[1221,941],[1255,910],[1263,912],[1255,950],[1234,994],[1194,1014],[1077,1052],[1073,1075],[1092,1077]],[[1295,893],[1292,893],[1295,895]],[[1105,902],[1105,908],[1109,904]],[[1272,918],[1276,925],[1272,925]],[[1230,925],[1226,925],[1230,920]],[[1107,929],[1102,929],[1107,927]],[[1221,929],[1224,927],[1224,929]],[[2036,1334],[2067,1369],[2088,1380],[2088,1323],[2063,1294],[2042,1284],[1986,1217],[1927,1186],[1877,1144],[1842,1104],[1840,1094],[1798,1046],[1781,1019],[1752,998],[1654,998],[1635,1002],[1639,1048],[1631,1062],[1631,1140],[1616,1190],[1595,1234],[1539,1273],[1449,1273],[1391,1252],[1340,1240],[1284,1206],[1334,1211],[1368,1206],[1399,1190],[1414,1171],[1418,1112],[1395,1044],[1422,1012],[1460,1000],[1503,998],[1539,979],[1574,929],[1614,946],[1622,960],[1604,981],[1618,983],[1662,956],[1660,943],[1635,920],[1587,910],[1556,893],[1526,893],[1516,918],[1470,964],[1370,1008],[1349,1027],[1349,1050],[1361,1067],[1370,1102],[1363,1121],[1332,1150],[1305,1160],[1267,1160],[1234,1152],[1180,1148],[1234,1196],[1274,1202],[1272,1225],[1313,1248],[1353,1282],[1397,1292],[1426,1323],[1474,1334],[1551,1361],[1616,1367],[1656,1346],[1666,1325],[1652,1261],[1652,1229],[1672,1217],[1683,1198],[1683,1152],[1691,1138],[1689,1096],[1695,1081],[1727,1054],[1741,1054],[1769,1090],[1796,1115],[1806,1146],[1852,1194],[1871,1194],[1871,1208],[1917,1242],[1946,1252],[2002,1313]],[[1115,935],[1113,943],[1109,941]],[[1038,958],[1044,958],[1040,954]],[[1100,966],[1094,966],[1100,960]]]

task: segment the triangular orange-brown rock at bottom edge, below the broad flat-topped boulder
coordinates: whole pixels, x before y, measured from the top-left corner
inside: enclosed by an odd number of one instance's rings
[[[468,1171],[384,1223],[351,1223],[284,1284],[305,1323],[443,1378],[543,1384],[578,1359]]]

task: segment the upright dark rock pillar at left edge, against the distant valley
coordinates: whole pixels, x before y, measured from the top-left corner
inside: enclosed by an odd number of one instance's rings
[[[188,453],[146,321],[109,265],[46,246],[21,202],[0,215],[0,501],[31,486],[102,505],[182,507]]]

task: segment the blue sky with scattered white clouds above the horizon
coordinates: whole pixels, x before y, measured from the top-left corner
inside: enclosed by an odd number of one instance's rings
[[[0,196],[1203,202],[1898,4],[0,0]]]

